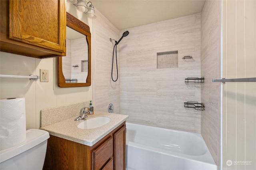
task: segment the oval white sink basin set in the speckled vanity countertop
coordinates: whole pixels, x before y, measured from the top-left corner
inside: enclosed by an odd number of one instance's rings
[[[85,121],[82,121],[77,125],[77,127],[80,129],[92,129],[92,128],[106,125],[108,122],[110,122],[109,117],[94,117],[94,118],[86,119]]]

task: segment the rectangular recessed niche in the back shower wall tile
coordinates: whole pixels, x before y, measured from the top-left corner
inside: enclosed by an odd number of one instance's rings
[[[178,51],[157,53],[157,68],[178,67]]]

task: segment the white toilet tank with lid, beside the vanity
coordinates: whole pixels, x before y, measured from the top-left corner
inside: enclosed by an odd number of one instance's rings
[[[42,170],[49,133],[40,129],[26,131],[26,141],[0,151],[1,170]]]

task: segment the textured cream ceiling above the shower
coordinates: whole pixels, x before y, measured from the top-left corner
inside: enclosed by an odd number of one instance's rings
[[[91,2],[118,29],[126,29],[199,13],[205,0],[91,0]]]

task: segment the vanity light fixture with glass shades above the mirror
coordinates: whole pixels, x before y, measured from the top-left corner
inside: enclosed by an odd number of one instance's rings
[[[86,2],[86,0],[67,0],[68,3],[74,4],[76,9],[80,12],[84,12],[88,18],[95,19],[95,9],[92,2]]]

